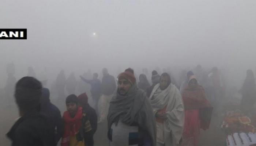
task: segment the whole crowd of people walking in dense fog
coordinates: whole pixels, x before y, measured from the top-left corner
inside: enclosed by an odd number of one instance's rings
[[[66,80],[61,71],[55,82],[58,102],[65,98],[67,109],[61,116],[59,108],[50,101],[45,81],[35,78],[33,68],[28,71],[28,76],[16,82],[13,65],[7,69],[6,95],[9,102],[16,102],[20,115],[7,133],[12,145],[57,145],[60,141],[61,146],[93,146],[101,141],[94,138],[98,125],[107,123],[105,136],[109,142],[105,145],[196,146],[200,129],[207,130],[212,116],[220,113],[219,101],[226,90],[217,67],[209,72],[200,65],[194,70],[182,70],[178,82],[171,73],[153,70],[151,83],[147,69],[136,80],[131,68],[117,77],[103,68],[102,80],[98,73],[93,73],[92,78],[80,76],[84,85],[90,85],[90,105],[83,89],[76,96],[74,73]],[[242,100],[238,108],[254,114],[251,111],[256,87],[252,70],[247,70],[239,93]]]

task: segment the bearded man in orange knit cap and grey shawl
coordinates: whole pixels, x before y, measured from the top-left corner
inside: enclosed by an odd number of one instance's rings
[[[130,68],[119,74],[117,93],[110,101],[108,138],[111,146],[154,146],[156,142],[153,109]]]

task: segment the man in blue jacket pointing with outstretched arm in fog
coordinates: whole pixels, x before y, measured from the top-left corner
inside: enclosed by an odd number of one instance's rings
[[[101,81],[98,79],[98,74],[93,73],[93,80],[87,80],[86,78],[80,76],[80,78],[86,82],[87,84],[91,85],[91,96],[93,98],[93,107],[99,115],[98,112],[98,102],[101,96]]]

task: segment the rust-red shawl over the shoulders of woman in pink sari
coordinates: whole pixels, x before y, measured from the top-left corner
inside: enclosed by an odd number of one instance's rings
[[[182,99],[185,110],[199,109],[200,128],[208,129],[211,122],[212,106],[206,99],[203,87],[200,85],[197,85],[196,88],[187,86],[182,92]]]

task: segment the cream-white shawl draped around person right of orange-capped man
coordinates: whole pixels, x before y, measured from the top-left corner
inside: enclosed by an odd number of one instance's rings
[[[170,84],[157,97],[153,97],[159,87],[159,83],[155,85],[149,99],[154,113],[162,110],[167,105],[167,120],[163,122],[165,145],[176,145],[182,137],[184,127],[185,115],[182,97],[179,90],[173,84]]]

